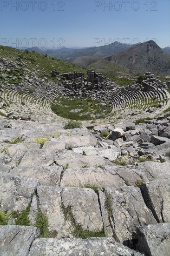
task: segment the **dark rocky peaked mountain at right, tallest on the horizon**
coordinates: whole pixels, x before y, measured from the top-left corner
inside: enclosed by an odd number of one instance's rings
[[[134,73],[170,74],[170,55],[153,40],[132,46],[125,51],[105,57]]]

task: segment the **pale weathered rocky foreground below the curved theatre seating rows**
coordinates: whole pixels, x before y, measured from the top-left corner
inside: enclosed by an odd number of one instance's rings
[[[169,114],[67,130],[1,118],[1,255],[168,256]]]

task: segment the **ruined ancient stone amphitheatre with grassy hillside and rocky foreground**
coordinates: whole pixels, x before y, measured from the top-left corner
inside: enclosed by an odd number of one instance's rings
[[[0,254],[168,256],[170,81],[0,56]]]

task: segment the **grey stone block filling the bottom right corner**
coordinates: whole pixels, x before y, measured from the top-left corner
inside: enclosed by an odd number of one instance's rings
[[[137,227],[137,248],[148,256],[170,254],[170,223]]]

